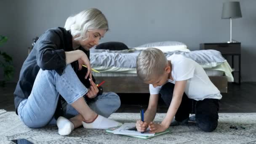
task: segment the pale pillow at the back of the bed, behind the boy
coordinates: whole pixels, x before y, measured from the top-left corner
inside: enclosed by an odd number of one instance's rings
[[[139,45],[137,47],[140,48],[149,48],[149,47],[156,47],[156,46],[174,46],[174,45],[182,45],[187,48],[187,45],[181,42],[176,42],[176,41],[164,41],[164,42],[156,42],[156,43],[147,43],[144,45]]]

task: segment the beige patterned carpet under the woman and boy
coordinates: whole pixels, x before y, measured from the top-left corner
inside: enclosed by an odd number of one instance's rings
[[[165,114],[157,114],[156,121]],[[115,113],[111,119],[134,122],[136,113]],[[230,129],[230,125],[245,129]],[[170,127],[170,133],[152,139],[137,139],[114,135],[104,130],[77,128],[69,136],[60,136],[56,126],[28,128],[14,112],[0,109],[0,144],[9,144],[11,139],[28,139],[34,144],[256,144],[256,113],[221,113],[219,125],[211,133],[203,132],[195,125]]]

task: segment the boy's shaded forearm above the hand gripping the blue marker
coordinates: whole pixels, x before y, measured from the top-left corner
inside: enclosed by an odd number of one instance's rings
[[[157,104],[158,104],[158,94],[151,94],[149,97],[149,105],[144,113],[144,121],[152,122],[155,118],[155,114],[157,112]]]

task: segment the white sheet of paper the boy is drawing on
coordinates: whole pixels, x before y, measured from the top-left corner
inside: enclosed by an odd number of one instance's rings
[[[129,128],[133,128],[136,123],[124,123],[120,128],[117,128],[113,131],[114,134],[128,134],[128,135],[137,135],[137,136],[154,136],[155,133],[149,133],[149,128],[144,133],[138,131],[128,130]]]

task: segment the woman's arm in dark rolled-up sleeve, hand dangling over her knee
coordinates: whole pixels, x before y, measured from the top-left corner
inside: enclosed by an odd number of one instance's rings
[[[50,29],[41,35],[34,46],[37,52],[37,65],[43,70],[55,70],[61,75],[67,64],[78,60],[80,67],[82,67],[82,64],[88,67],[85,78],[87,78],[88,75],[90,75],[91,78],[91,64],[88,57],[81,50],[71,51],[72,40],[66,43],[65,35],[67,34],[61,29]]]

